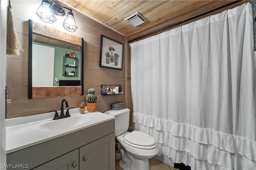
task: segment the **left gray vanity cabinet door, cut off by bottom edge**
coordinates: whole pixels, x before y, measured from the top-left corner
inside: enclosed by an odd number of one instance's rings
[[[33,170],[79,170],[79,149],[68,152]]]

